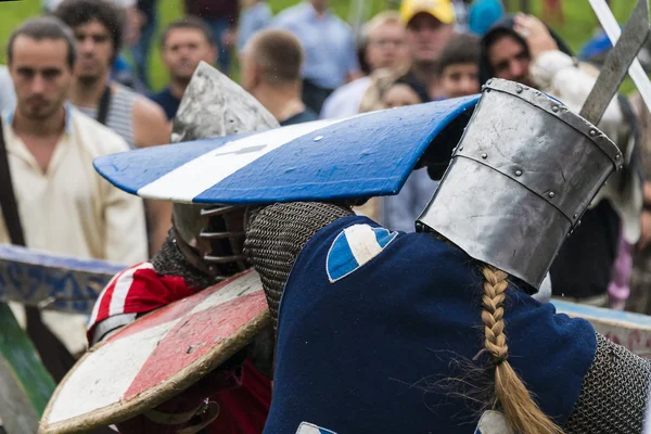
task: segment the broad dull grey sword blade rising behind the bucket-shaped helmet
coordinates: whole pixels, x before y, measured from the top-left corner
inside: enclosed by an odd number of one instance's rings
[[[579,115],[597,125],[608,104],[617,93],[628,67],[636,60],[650,33],[649,2],[639,0],[615,43],[605,59],[597,82],[592,87]]]

